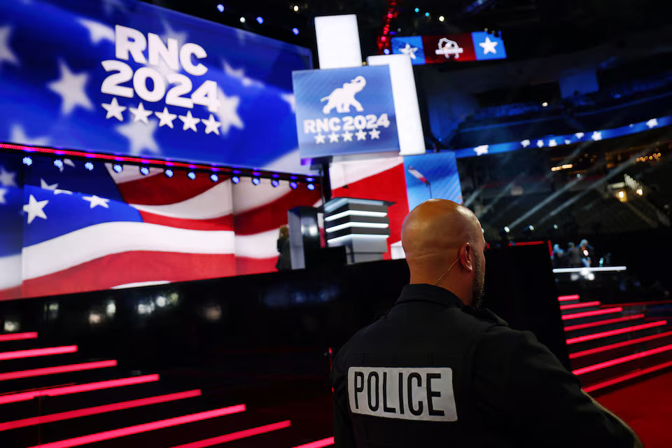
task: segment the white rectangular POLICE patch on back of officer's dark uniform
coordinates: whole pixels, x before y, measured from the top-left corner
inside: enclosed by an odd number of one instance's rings
[[[450,367],[350,367],[348,395],[354,414],[457,421]]]

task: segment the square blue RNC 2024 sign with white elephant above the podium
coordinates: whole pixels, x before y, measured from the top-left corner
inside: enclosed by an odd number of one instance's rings
[[[293,73],[302,158],[398,151],[388,66]]]

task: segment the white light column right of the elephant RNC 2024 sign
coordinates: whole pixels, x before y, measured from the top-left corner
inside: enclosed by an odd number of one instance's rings
[[[425,153],[418,92],[411,58],[408,55],[380,55],[366,58],[369,65],[390,66],[394,113],[399,134],[399,155]]]

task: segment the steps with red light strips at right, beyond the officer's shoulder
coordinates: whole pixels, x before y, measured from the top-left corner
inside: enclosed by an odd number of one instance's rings
[[[598,303],[598,309],[583,311],[596,304],[582,303],[577,295],[558,300],[570,364],[586,391],[600,393],[672,366],[672,325],[668,321],[631,313],[626,305]]]

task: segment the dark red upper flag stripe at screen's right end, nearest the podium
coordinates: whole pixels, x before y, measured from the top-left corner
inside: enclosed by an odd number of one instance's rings
[[[263,194],[261,188],[260,194]],[[290,190],[289,193],[273,202],[236,214],[233,218],[236,235],[253,235],[286,225],[289,209],[300,206],[312,207],[320,200],[320,197],[318,190],[311,191],[304,186],[300,186],[296,190]]]

